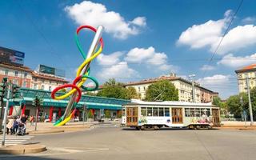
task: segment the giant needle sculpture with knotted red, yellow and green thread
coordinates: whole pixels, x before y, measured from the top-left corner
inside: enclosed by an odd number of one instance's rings
[[[85,54],[84,51],[82,50],[82,47],[78,40],[78,34],[82,29],[90,29],[96,33],[87,54]],[[78,27],[77,32],[75,34],[75,41],[78,46],[78,50],[80,51],[80,53],[82,54],[82,57],[84,58],[84,62],[82,62],[81,66],[78,67],[76,78],[74,79],[74,82],[72,84],[64,84],[62,86],[58,86],[51,93],[51,98],[56,100],[62,100],[70,96],[70,102],[68,102],[68,105],[66,106],[65,113],[62,115],[62,118],[59,118],[58,121],[54,123],[54,126],[62,126],[66,124],[66,122],[69,122],[70,119],[74,117],[74,114],[76,112],[76,106],[78,105],[78,102],[82,96],[82,90],[93,91],[98,89],[97,80],[93,77],[90,77],[90,62],[94,60],[94,58],[96,58],[99,54],[102,53],[102,49],[103,49],[102,31],[103,31],[103,26],[98,26],[97,30],[92,26]],[[82,86],[86,82],[87,78],[89,78],[95,83],[94,88]],[[61,90],[63,88],[72,88],[72,90],[70,90],[66,94],[55,96],[56,92],[58,92],[58,90]]]

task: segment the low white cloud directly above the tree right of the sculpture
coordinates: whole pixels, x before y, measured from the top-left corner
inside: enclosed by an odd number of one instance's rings
[[[131,69],[127,62],[118,62],[110,67],[104,67],[100,72],[98,72],[98,77],[102,79],[108,78],[136,78],[138,77],[138,72]]]

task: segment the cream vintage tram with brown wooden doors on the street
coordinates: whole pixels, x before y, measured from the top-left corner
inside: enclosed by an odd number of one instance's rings
[[[211,129],[220,126],[220,110],[209,103],[143,102],[133,100],[122,105],[122,126],[137,130],[158,130],[162,127]]]

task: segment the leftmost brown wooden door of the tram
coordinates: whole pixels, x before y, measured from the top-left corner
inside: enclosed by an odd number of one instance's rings
[[[126,108],[126,125],[138,126],[138,107]]]

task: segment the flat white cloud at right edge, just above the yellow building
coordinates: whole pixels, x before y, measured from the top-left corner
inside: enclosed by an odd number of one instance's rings
[[[233,54],[227,54],[218,62],[224,66],[230,66],[233,68],[239,68],[241,66],[247,66],[256,62],[256,53],[245,57],[234,57]]]

